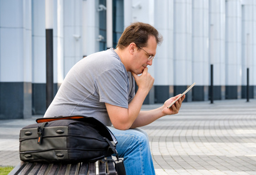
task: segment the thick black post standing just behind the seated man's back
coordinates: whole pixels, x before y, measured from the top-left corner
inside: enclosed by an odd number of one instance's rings
[[[53,100],[53,29],[46,29],[46,109]]]

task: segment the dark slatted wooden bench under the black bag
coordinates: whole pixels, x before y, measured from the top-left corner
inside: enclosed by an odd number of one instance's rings
[[[98,171],[98,173],[97,173]],[[61,164],[61,163],[19,163],[9,174],[110,174],[117,175],[114,163],[103,162],[98,160],[94,163],[76,163],[76,164]]]

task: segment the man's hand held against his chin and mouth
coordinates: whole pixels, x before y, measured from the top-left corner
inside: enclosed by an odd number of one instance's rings
[[[155,79],[148,73],[148,68],[145,68],[140,76],[134,74],[134,72],[132,72],[132,76],[134,76],[139,89],[145,90],[146,92],[151,90]]]

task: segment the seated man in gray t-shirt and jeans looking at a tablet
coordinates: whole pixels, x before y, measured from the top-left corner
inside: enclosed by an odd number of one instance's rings
[[[183,96],[170,108],[168,105],[178,96],[166,100],[155,110],[141,111],[154,81],[147,66],[152,65],[156,47],[161,42],[162,37],[151,25],[131,24],[120,37],[116,49],[88,55],[71,68],[45,117],[84,115],[97,118],[117,138],[117,152],[124,157],[127,174],[155,174],[148,136],[137,127],[178,113],[185,98]],[[136,95],[134,81],[138,85]]]

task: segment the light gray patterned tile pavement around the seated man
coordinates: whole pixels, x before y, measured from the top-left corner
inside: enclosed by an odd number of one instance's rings
[[[36,117],[0,120],[0,166],[19,163],[19,130]],[[142,128],[156,174],[256,174],[255,99],[183,103],[179,114]]]

